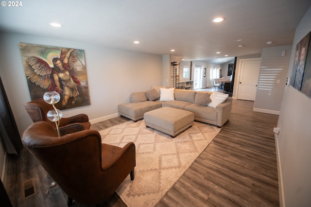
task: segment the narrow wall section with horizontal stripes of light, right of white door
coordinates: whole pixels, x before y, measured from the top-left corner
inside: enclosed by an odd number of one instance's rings
[[[286,51],[285,56],[280,56],[281,51]],[[292,45],[263,48],[254,111],[279,114],[291,52]],[[267,79],[273,80],[267,83]]]

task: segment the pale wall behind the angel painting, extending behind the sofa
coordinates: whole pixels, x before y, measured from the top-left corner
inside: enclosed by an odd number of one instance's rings
[[[84,50],[91,105],[63,110],[64,117],[78,113],[86,113],[90,120],[115,117],[118,104],[128,102],[132,92],[148,90],[152,85],[162,85],[162,55],[1,33],[0,76],[20,134],[32,121],[23,107],[24,103],[30,101],[30,94],[18,43]]]

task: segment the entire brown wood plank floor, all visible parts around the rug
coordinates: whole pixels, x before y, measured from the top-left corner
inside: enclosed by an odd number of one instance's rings
[[[276,146],[273,127],[277,115],[253,112],[254,102],[233,100],[232,114],[220,133],[156,205],[167,206],[279,206]],[[123,117],[92,124],[102,130],[128,121]],[[14,207],[66,207],[67,195],[26,149],[9,157],[6,190]],[[37,193],[24,199],[22,183],[35,178]],[[114,193],[101,206],[125,207]],[[73,202],[72,207],[86,207]]]

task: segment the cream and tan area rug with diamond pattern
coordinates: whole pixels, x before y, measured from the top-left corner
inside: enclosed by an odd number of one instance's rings
[[[102,142],[136,146],[135,179],[128,176],[116,190],[128,207],[153,207],[220,132],[215,126],[193,122],[175,138],[143,120],[129,121],[100,131]]]

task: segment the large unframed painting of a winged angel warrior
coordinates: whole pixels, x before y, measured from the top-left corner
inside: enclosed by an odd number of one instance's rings
[[[81,55],[74,49],[19,45],[32,100],[42,98],[46,91],[57,91],[59,109],[89,105],[83,51]]]

